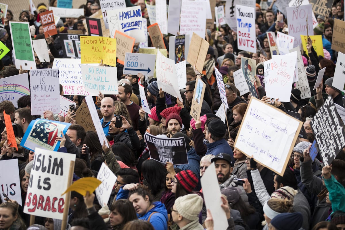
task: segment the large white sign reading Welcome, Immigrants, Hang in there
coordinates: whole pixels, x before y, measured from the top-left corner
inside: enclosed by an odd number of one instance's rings
[[[234,147],[283,176],[302,125],[302,121],[252,97]]]

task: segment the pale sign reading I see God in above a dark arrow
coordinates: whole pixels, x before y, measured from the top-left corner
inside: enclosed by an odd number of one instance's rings
[[[156,55],[144,53],[126,53],[123,74],[153,75]]]

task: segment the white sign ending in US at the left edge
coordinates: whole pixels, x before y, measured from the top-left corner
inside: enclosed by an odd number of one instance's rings
[[[6,194],[8,198],[17,201],[20,206],[23,206],[20,190],[20,182],[23,178],[19,178],[18,159],[0,161],[0,175],[2,192]],[[4,202],[5,197],[2,192],[0,193],[0,198]]]

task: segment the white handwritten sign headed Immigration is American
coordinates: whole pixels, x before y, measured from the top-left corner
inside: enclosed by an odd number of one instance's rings
[[[30,71],[31,115],[42,115],[44,111],[60,111],[60,87],[58,69]]]

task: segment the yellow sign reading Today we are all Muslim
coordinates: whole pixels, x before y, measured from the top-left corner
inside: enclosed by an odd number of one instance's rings
[[[116,39],[80,36],[81,63],[99,63],[116,66]]]

